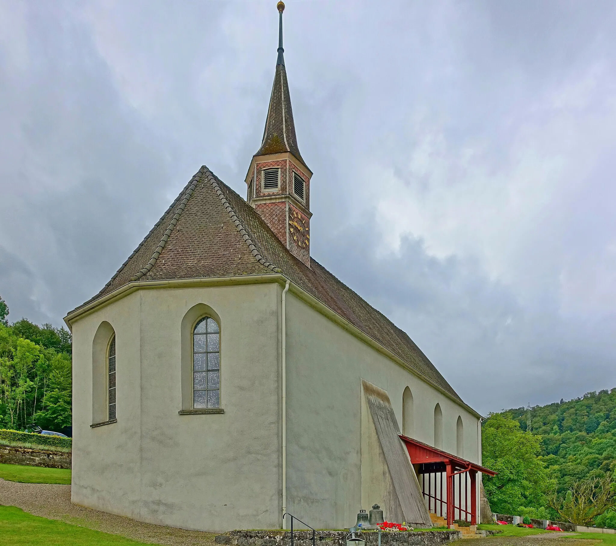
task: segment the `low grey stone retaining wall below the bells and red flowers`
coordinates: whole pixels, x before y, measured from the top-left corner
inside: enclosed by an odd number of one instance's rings
[[[317,531],[316,546],[346,546],[348,531]],[[365,546],[377,546],[378,532],[365,531],[359,534]],[[357,534],[356,534],[357,536]],[[460,531],[404,531],[381,533],[382,546],[440,546],[460,540]],[[296,546],[312,546],[312,531],[294,531]],[[217,544],[233,546],[290,546],[290,531],[230,531],[216,537]]]

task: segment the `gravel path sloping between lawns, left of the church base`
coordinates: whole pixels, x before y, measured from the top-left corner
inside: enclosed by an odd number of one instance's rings
[[[0,504],[150,544],[214,546],[213,533],[142,523],[71,503],[71,486],[21,484],[0,478]]]

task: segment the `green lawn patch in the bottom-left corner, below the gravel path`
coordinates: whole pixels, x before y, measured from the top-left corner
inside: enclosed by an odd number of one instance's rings
[[[144,542],[118,535],[92,531],[56,521],[39,518],[14,506],[0,506],[0,546],[107,546],[143,545]]]

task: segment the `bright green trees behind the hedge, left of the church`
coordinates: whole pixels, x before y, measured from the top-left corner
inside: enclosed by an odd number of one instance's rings
[[[70,333],[25,318],[9,325],[8,311],[0,298],[0,428],[70,432]]]

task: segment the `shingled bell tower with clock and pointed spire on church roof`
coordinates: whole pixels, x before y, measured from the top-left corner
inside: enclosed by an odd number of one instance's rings
[[[310,267],[310,178],[312,171],[299,153],[295,134],[285,50],[282,12],[278,2],[278,60],[261,147],[246,174],[246,201],[265,220],[278,239]]]

